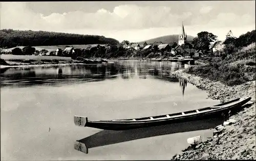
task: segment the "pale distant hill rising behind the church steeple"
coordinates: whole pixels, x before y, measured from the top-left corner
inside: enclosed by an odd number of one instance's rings
[[[187,35],[187,40],[189,42],[193,41],[195,37],[193,36],[189,36]],[[164,44],[168,44],[168,43],[173,43],[173,42],[177,42],[178,43],[179,40],[179,35],[166,35],[166,36],[161,36],[161,37],[157,37],[154,39],[149,39],[149,40],[145,40],[147,44],[153,43],[155,41],[161,41]],[[141,41],[139,43],[144,43],[145,41]]]

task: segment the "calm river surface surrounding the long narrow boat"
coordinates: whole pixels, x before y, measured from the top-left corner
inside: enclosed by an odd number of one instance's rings
[[[184,67],[124,61],[1,69],[1,159],[170,159],[188,145],[187,138],[201,135],[204,140],[212,130],[198,123],[188,125],[200,126],[190,131],[184,131],[185,125],[108,131],[75,126],[73,116],[128,119],[219,103],[206,99],[205,91],[163,74]],[[74,149],[80,139],[89,147],[88,154]]]

